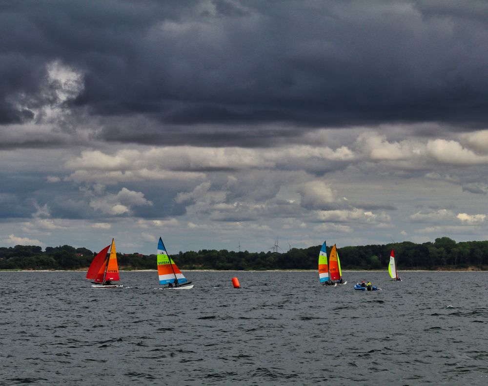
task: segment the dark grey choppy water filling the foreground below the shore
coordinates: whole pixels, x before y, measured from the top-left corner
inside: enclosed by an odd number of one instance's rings
[[[241,289],[232,288],[237,276]],[[488,273],[0,272],[0,385],[485,385]],[[371,280],[382,291],[353,290]]]

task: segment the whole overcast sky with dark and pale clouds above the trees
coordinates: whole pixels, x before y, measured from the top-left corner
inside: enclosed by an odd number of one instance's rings
[[[0,1],[0,246],[488,238],[486,1]]]

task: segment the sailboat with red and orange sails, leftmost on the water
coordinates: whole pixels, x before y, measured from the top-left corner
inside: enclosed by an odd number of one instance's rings
[[[110,249],[110,254],[107,252]],[[103,248],[90,264],[86,278],[93,280],[93,288],[122,288],[122,284],[113,284],[118,282],[119,265],[117,264],[117,252],[115,250],[115,241],[112,239],[112,244]]]

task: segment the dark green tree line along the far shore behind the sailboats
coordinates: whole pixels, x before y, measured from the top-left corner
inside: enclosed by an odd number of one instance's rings
[[[171,255],[181,269],[267,270],[317,269],[321,245],[291,248],[279,252],[235,252],[202,249]],[[327,247],[330,253],[331,246]],[[343,269],[386,269],[394,249],[399,269],[439,269],[442,267],[488,269],[488,241],[456,243],[448,237],[415,244],[411,242],[359,245],[338,248]],[[96,252],[70,245],[46,247],[16,245],[0,247],[0,269],[86,269]],[[156,269],[156,255],[117,253],[120,269]]]

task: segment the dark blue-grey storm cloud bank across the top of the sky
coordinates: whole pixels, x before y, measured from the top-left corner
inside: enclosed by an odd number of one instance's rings
[[[52,61],[83,73],[73,111],[146,121],[108,124],[107,140],[488,120],[484,1],[13,1],[0,15],[0,124],[32,118]],[[217,143],[234,135],[258,142]]]

